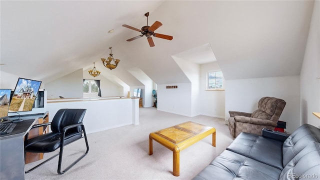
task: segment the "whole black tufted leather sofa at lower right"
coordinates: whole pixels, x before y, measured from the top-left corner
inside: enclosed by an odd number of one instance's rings
[[[303,124],[291,135],[241,132],[193,179],[320,179],[320,129]]]

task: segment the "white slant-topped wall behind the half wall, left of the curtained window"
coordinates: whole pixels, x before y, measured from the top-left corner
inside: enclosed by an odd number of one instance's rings
[[[66,98],[82,97],[83,77],[82,69],[76,70],[63,77],[44,84],[48,98],[56,98],[59,95]]]

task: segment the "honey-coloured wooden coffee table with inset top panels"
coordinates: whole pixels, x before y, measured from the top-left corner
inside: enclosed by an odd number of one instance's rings
[[[149,134],[149,155],[152,155],[152,139],[173,152],[173,175],[179,176],[179,152],[202,138],[212,134],[215,147],[215,128],[195,122],[184,122]]]

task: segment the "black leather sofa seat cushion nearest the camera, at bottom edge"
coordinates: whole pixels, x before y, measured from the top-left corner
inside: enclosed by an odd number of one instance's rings
[[[224,150],[193,179],[278,179],[281,170]]]

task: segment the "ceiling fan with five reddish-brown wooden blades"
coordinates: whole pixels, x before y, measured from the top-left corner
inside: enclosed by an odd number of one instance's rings
[[[127,27],[129,29],[141,32],[141,35],[129,38],[126,41],[131,41],[131,40],[137,39],[139,37],[143,37],[143,35],[145,35],[147,40],[148,40],[148,42],[149,42],[150,47],[153,47],[154,46],[154,42],[153,42],[152,37],[151,37],[152,35],[154,37],[164,38],[164,39],[167,39],[167,40],[171,40],[173,38],[171,35],[155,33],[154,30],[159,28],[162,25],[162,23],[159,22],[159,21],[155,21],[151,26],[148,26],[149,12],[146,12],[144,15],[146,16],[146,25],[141,27],[141,29],[132,27],[130,25],[122,24],[123,27]]]

